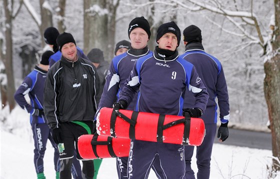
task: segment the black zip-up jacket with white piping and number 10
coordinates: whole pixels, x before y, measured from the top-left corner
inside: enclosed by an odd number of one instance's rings
[[[94,119],[95,94],[99,79],[95,67],[78,57],[75,62],[61,60],[48,70],[44,87],[44,113],[48,126],[58,128],[59,123]]]

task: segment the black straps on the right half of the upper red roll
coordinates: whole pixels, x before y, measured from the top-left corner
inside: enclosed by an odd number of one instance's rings
[[[188,138],[189,138],[189,130],[190,130],[190,116],[185,116],[182,119],[178,119],[172,122],[169,122],[165,125],[164,123],[165,115],[160,114],[158,117],[158,123],[157,123],[157,142],[163,142],[163,130],[166,128],[169,128],[173,125],[184,123],[184,132],[183,132],[183,145],[188,145]]]

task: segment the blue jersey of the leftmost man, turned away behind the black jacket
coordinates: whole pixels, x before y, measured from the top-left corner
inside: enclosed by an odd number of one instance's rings
[[[35,68],[24,78],[21,85],[14,93],[14,99],[21,108],[30,113],[30,123],[45,123],[45,116],[33,115],[34,109],[43,109],[43,89],[47,71],[39,66]],[[27,103],[24,95],[28,94],[30,104]]]

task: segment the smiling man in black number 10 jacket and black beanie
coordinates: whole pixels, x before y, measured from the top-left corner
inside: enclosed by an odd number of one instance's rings
[[[70,33],[63,32],[56,39],[61,51],[60,61],[47,73],[44,88],[44,112],[58,144],[60,179],[71,178],[74,143],[82,134],[91,134],[96,112],[95,94],[99,79],[95,67],[77,56],[76,43]],[[77,158],[82,159],[77,152]],[[82,160],[82,177],[92,178],[93,160]]]

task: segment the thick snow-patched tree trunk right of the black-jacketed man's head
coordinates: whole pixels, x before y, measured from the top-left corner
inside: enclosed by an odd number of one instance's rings
[[[104,56],[107,54],[108,12],[105,8],[105,0],[83,1],[83,51],[85,54],[91,48],[100,48],[104,51]]]

